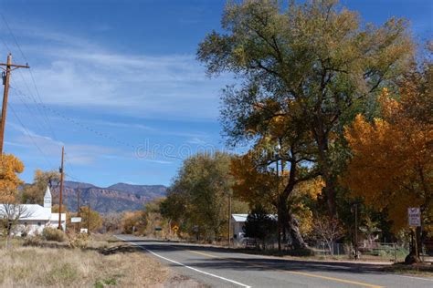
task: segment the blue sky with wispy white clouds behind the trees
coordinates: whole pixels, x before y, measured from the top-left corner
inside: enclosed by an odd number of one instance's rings
[[[431,38],[431,1],[342,3],[376,24],[406,17],[417,42]],[[69,180],[168,185],[188,155],[224,149],[219,91],[234,79],[207,78],[195,61],[224,5],[0,1],[0,59],[12,52],[32,67],[13,74],[5,133],[5,152],[26,165],[22,178],[58,169],[64,145]]]

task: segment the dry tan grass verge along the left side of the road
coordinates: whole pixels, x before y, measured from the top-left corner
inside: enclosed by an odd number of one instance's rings
[[[0,248],[1,287],[157,287],[169,271],[132,247],[98,240],[88,250]],[[105,248],[105,249],[101,249]],[[100,251],[109,250],[109,253]]]

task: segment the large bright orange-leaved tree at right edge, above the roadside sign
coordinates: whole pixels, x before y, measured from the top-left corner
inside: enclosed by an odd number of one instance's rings
[[[400,101],[384,89],[379,98],[383,117],[370,123],[358,115],[345,129],[353,158],[343,181],[354,196],[387,210],[394,231],[407,227],[408,207],[420,207],[424,225],[431,229],[433,122],[427,108],[432,94],[431,85],[424,85],[429,74],[408,77]]]

